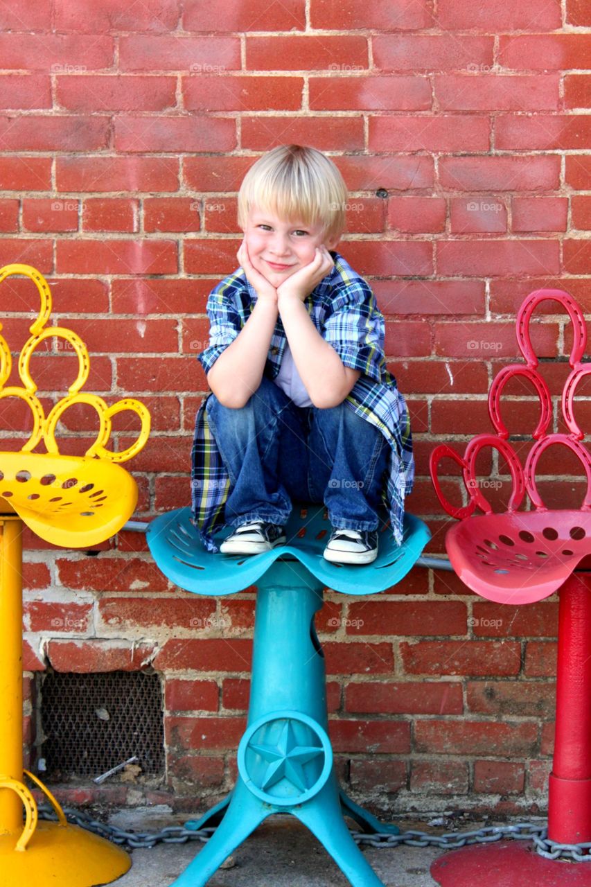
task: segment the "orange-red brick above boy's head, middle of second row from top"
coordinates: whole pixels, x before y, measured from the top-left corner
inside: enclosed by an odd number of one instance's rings
[[[247,35],[246,64],[250,71],[346,71],[367,67],[367,41],[361,35]]]

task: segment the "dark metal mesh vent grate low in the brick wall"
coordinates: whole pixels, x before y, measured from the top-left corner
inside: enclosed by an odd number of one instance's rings
[[[95,777],[133,755],[143,775],[163,773],[162,687],[157,674],[48,671],[38,689],[41,754],[50,780]]]

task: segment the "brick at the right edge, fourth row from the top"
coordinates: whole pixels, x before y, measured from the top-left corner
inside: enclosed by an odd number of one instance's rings
[[[591,114],[500,114],[495,132],[495,144],[500,150],[588,148]]]

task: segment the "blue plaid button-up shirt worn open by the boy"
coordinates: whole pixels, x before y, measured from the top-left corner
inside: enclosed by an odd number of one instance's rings
[[[353,271],[342,255],[331,252],[335,268],[305,299],[311,321],[329,342],[345,366],[361,375],[344,404],[379,428],[390,443],[387,483],[383,503],[390,514],[394,538],[402,542],[404,499],[413,489],[414,459],[410,421],[396,380],[386,369],[384,322],[375,296],[366,281]],[[250,316],[256,292],[239,268],[209,294],[209,346],[198,359],[206,373],[217,357],[236,338]],[[281,319],[272,334],[264,374],[275,379],[287,343]],[[195,419],[192,451],[191,501],[193,523],[210,552],[218,548],[213,533],[225,526],[225,500],[231,483],[217,443],[209,428],[205,404]]]

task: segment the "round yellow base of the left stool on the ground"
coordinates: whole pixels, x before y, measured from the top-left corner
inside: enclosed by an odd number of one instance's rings
[[[84,828],[41,821],[27,850],[15,851],[18,835],[0,835],[0,887],[95,887],[131,867],[128,853]]]

